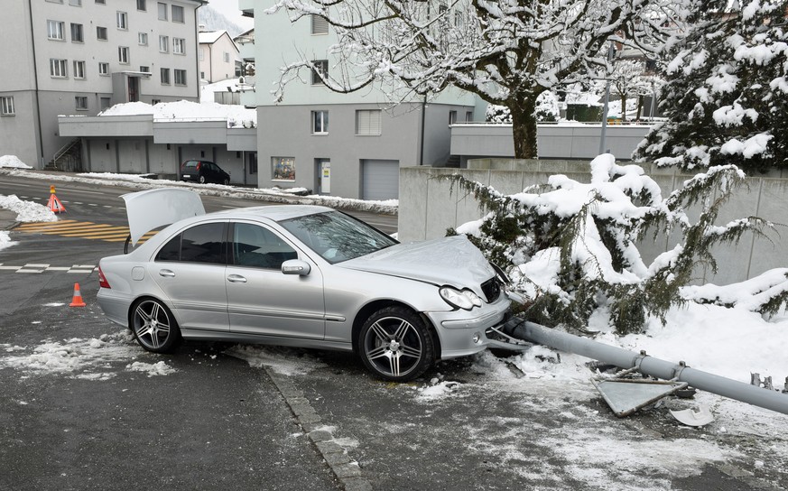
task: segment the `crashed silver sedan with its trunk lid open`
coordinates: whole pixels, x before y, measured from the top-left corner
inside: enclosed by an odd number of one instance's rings
[[[407,381],[485,349],[505,320],[504,279],[464,236],[400,244],[316,206],[205,214],[189,192],[125,195],[134,241],[178,219],[99,263],[99,305],[149,351],[181,338],[338,349]]]

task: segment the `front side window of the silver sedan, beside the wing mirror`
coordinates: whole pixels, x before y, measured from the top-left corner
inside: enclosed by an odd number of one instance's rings
[[[238,266],[281,269],[288,259],[298,259],[283,238],[265,227],[236,223],[233,227],[233,263]]]

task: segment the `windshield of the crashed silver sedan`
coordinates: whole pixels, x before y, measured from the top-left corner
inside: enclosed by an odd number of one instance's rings
[[[338,211],[288,218],[279,223],[331,264],[398,244],[376,228]]]

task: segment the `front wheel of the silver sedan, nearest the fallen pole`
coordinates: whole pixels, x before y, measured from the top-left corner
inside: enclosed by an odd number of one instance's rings
[[[435,347],[422,318],[404,307],[386,307],[371,315],[358,335],[358,354],[376,376],[407,382],[435,362]]]

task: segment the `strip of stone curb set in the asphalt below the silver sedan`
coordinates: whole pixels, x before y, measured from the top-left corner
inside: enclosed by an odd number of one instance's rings
[[[293,416],[301,429],[309,437],[311,444],[320,452],[331,472],[342,483],[345,491],[372,491],[372,484],[362,476],[358,462],[354,460],[348,449],[337,443],[329,425],[322,421],[309,400],[290,379],[276,374],[265,367],[265,372],[276,385],[284,401],[290,406]]]

